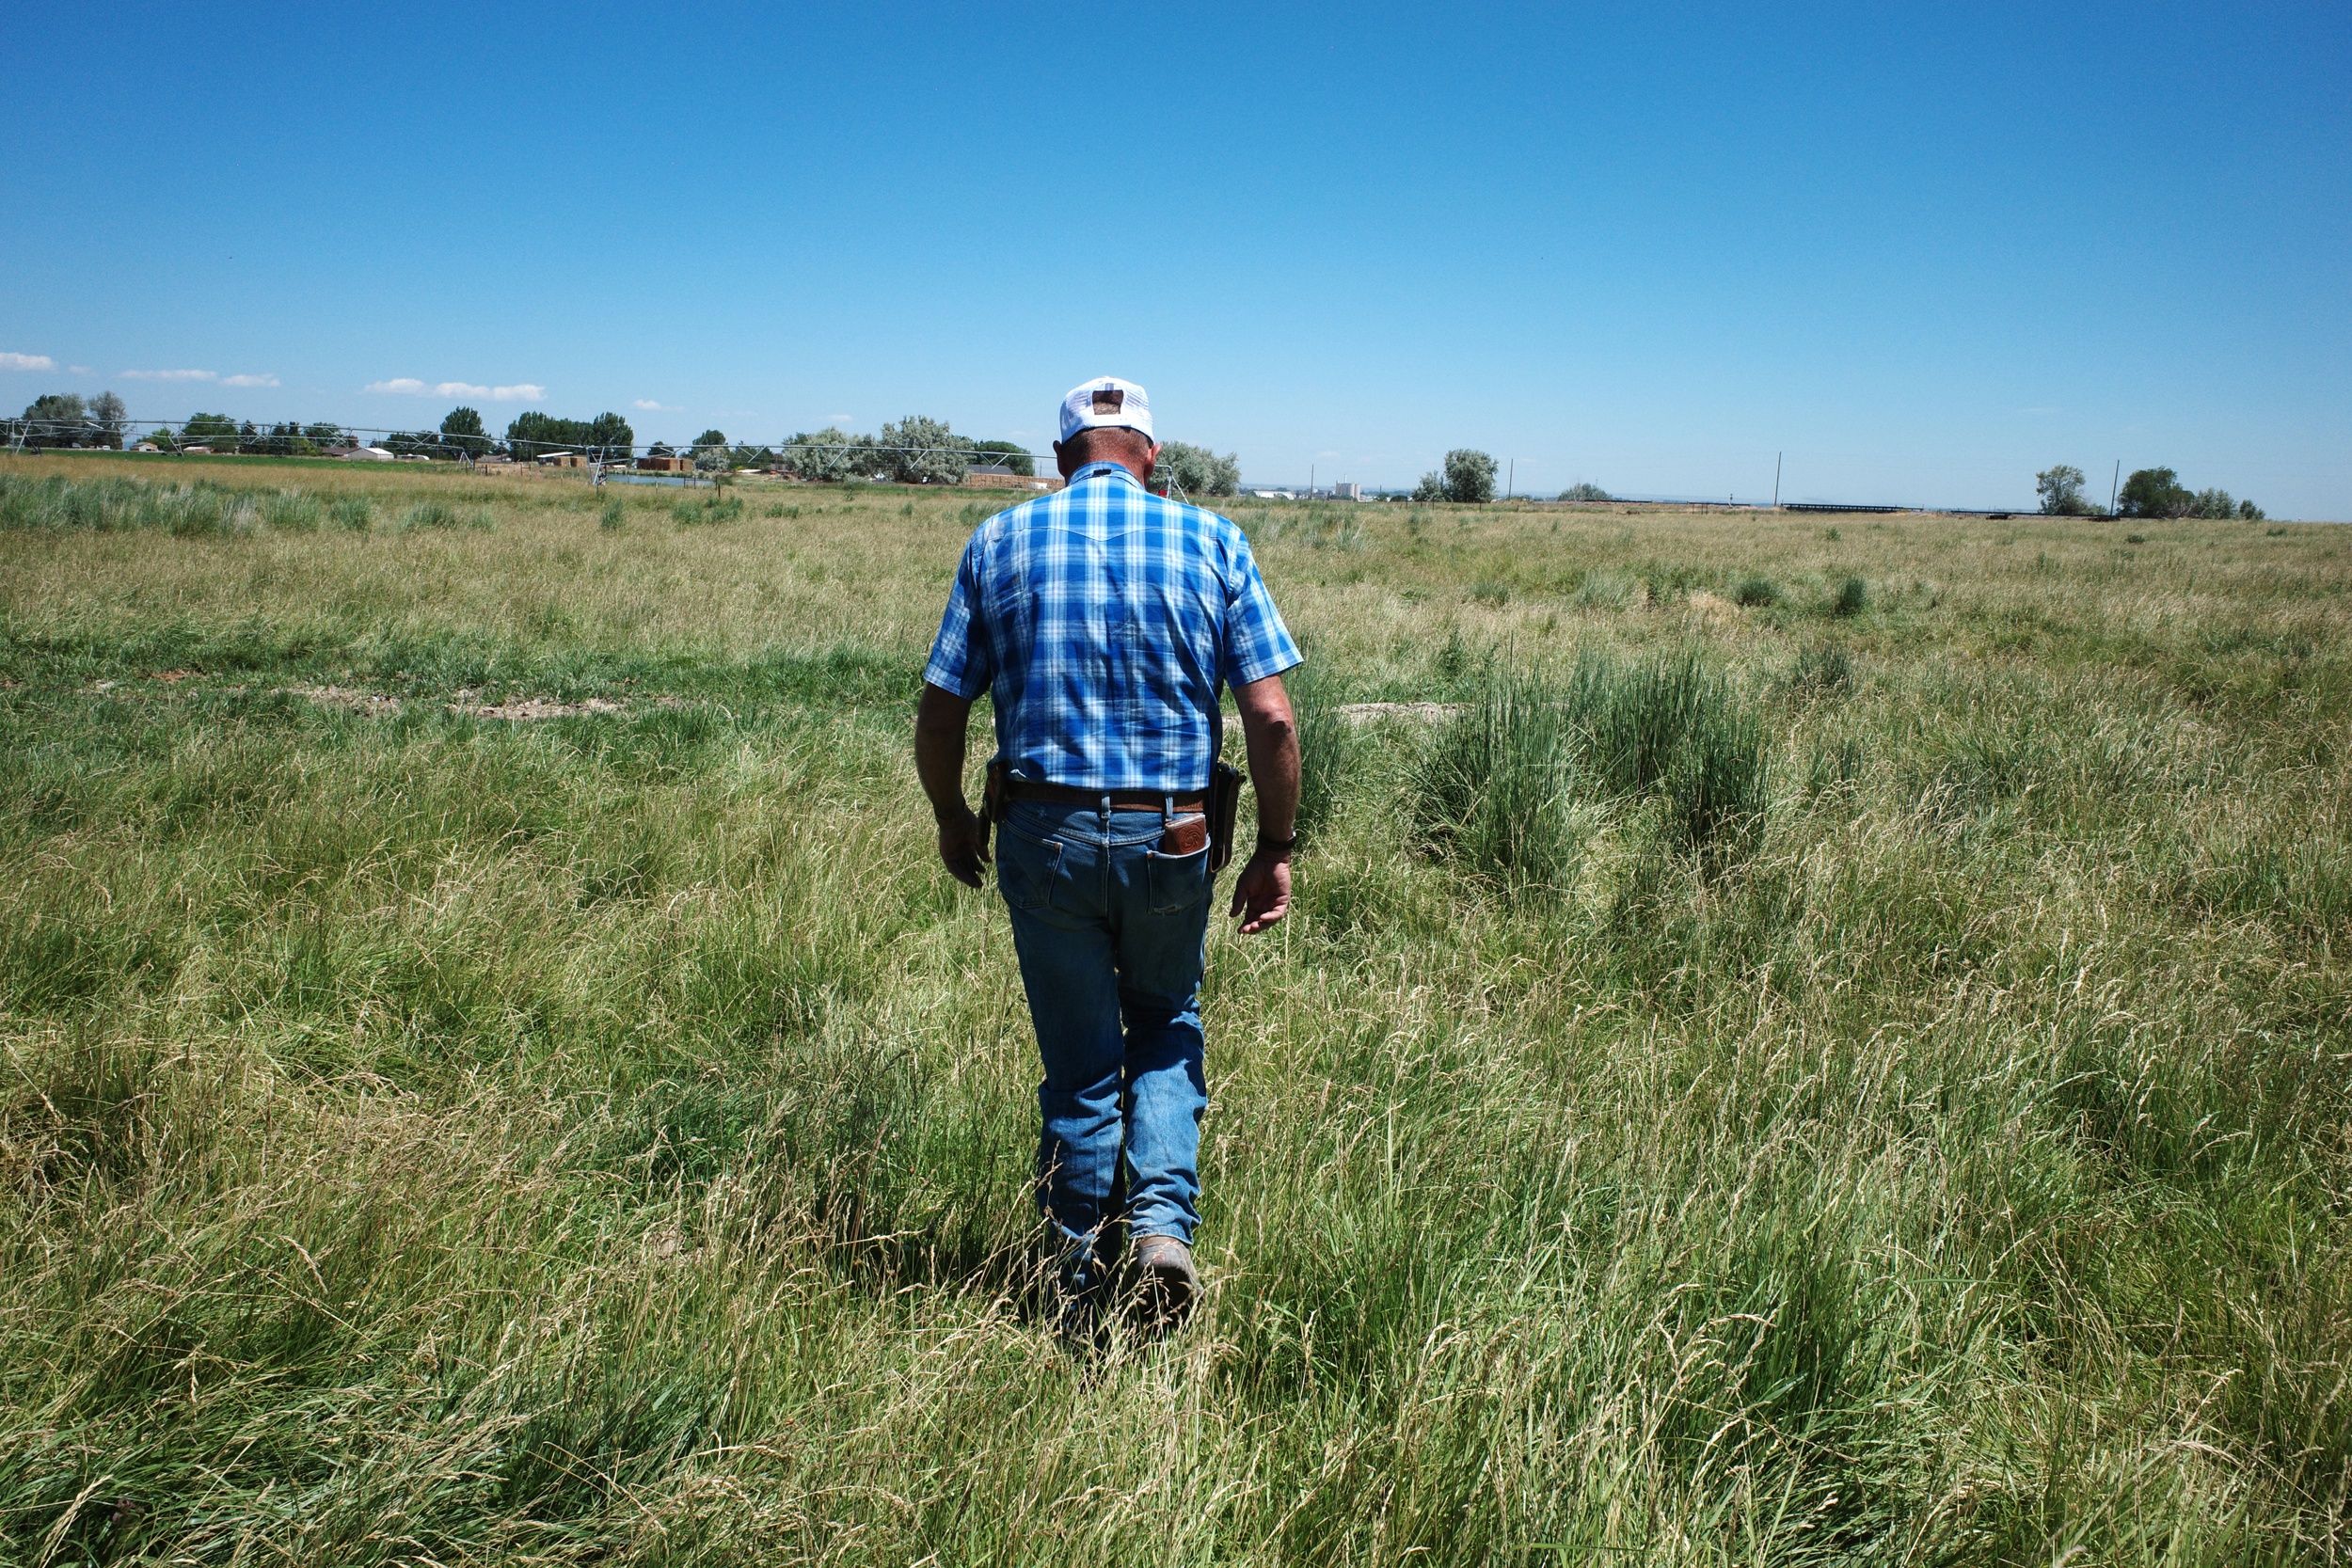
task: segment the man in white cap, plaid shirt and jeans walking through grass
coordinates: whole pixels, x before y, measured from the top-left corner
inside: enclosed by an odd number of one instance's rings
[[[1058,1328],[1094,1333],[1117,1234],[1148,1328],[1200,1295],[1209,788],[1221,686],[1242,710],[1256,851],[1232,889],[1244,933],[1291,903],[1298,663],[1242,531],[1145,489],[1160,447],[1141,386],[1101,376],[1061,402],[1068,489],[983,522],[924,668],[915,771],[938,858],[981,886],[988,825],[964,802],[964,722],[988,691],[1002,802],[997,886],[1044,1081],[1037,1201],[1058,1246]]]

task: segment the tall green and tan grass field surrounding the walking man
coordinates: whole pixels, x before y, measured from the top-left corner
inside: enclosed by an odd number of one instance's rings
[[[0,461],[0,1561],[2352,1559],[2352,536],[1242,505],[1301,903],[1082,1373],[1002,503]]]

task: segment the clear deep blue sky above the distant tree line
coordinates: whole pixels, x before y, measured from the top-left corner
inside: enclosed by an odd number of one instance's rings
[[[2030,505],[2122,458],[2352,517],[2340,0],[28,7],[5,52],[0,404],[1042,447],[1120,374],[1261,482],[1764,498],[1785,449],[1785,498]]]

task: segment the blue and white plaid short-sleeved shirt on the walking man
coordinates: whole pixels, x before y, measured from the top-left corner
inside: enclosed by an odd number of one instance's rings
[[[1178,792],[1209,785],[1218,691],[1296,663],[1242,529],[1089,463],[974,529],[922,679],[990,693],[1016,778]]]

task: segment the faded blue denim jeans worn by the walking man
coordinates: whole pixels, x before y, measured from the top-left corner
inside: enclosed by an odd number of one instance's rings
[[[1162,856],[1157,811],[1014,802],[997,886],[1014,917],[1044,1081],[1037,1204],[1063,1281],[1103,1279],[1103,1227],[1192,1239],[1200,1225],[1200,973],[1209,851]]]

